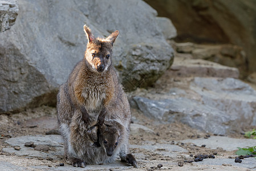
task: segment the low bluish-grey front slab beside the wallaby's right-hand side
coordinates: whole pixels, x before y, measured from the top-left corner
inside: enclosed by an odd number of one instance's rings
[[[197,101],[186,98],[150,100],[139,96],[133,99],[145,115],[165,123],[181,121],[192,128],[222,135],[229,128],[230,120],[224,112]]]

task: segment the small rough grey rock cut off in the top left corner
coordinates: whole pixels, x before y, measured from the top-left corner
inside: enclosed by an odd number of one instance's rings
[[[17,0],[0,1],[0,32],[8,30],[14,25],[18,11]]]

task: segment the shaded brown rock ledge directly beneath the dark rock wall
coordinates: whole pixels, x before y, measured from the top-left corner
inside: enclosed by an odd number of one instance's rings
[[[248,62],[242,47],[232,44],[195,44],[191,42],[170,44],[182,55],[190,55],[193,59],[205,59],[224,66],[235,67],[239,70],[239,78],[245,79],[248,75]],[[219,71],[220,72],[220,71]],[[210,75],[209,75],[210,76]],[[232,77],[226,75],[224,77]]]

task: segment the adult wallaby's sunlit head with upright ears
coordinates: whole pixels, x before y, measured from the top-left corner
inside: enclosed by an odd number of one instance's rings
[[[112,48],[119,31],[112,32],[105,39],[95,38],[91,29],[84,25],[88,43],[84,58],[86,58],[87,66],[94,72],[99,74],[108,70],[112,64]]]

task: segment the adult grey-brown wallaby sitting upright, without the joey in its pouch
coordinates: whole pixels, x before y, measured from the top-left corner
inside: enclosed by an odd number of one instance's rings
[[[104,149],[94,148],[95,142],[88,131],[97,120],[106,118],[123,126],[119,156],[122,161],[136,166],[135,158],[129,154],[129,103],[112,65],[113,43],[119,31],[105,39],[95,38],[86,25],[84,32],[88,38],[84,58],[76,64],[58,93],[58,123],[64,139],[64,158],[68,164],[80,167],[105,160],[99,159]]]

